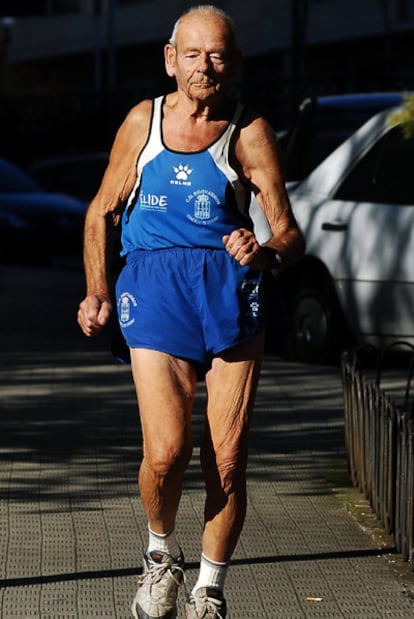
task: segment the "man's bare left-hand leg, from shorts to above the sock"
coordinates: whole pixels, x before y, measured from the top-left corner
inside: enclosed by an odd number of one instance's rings
[[[153,350],[132,349],[131,361],[144,443],[141,501],[151,530],[167,533],[192,453],[196,372],[187,361]]]

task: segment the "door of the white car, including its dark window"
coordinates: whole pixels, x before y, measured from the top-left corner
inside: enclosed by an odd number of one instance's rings
[[[413,161],[414,139],[390,129],[318,209],[345,313],[375,343],[414,337]]]

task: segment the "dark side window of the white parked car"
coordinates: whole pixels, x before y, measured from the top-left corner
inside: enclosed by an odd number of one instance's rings
[[[414,204],[413,161],[414,139],[394,127],[357,163],[334,199]]]

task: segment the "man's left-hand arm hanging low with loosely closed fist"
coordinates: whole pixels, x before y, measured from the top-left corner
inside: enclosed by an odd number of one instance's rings
[[[133,108],[119,128],[109,164],[89,205],[84,229],[86,296],[79,305],[78,323],[87,336],[97,335],[109,320],[112,303],[108,273],[111,228],[136,181],[136,162],[148,135],[151,102]]]

